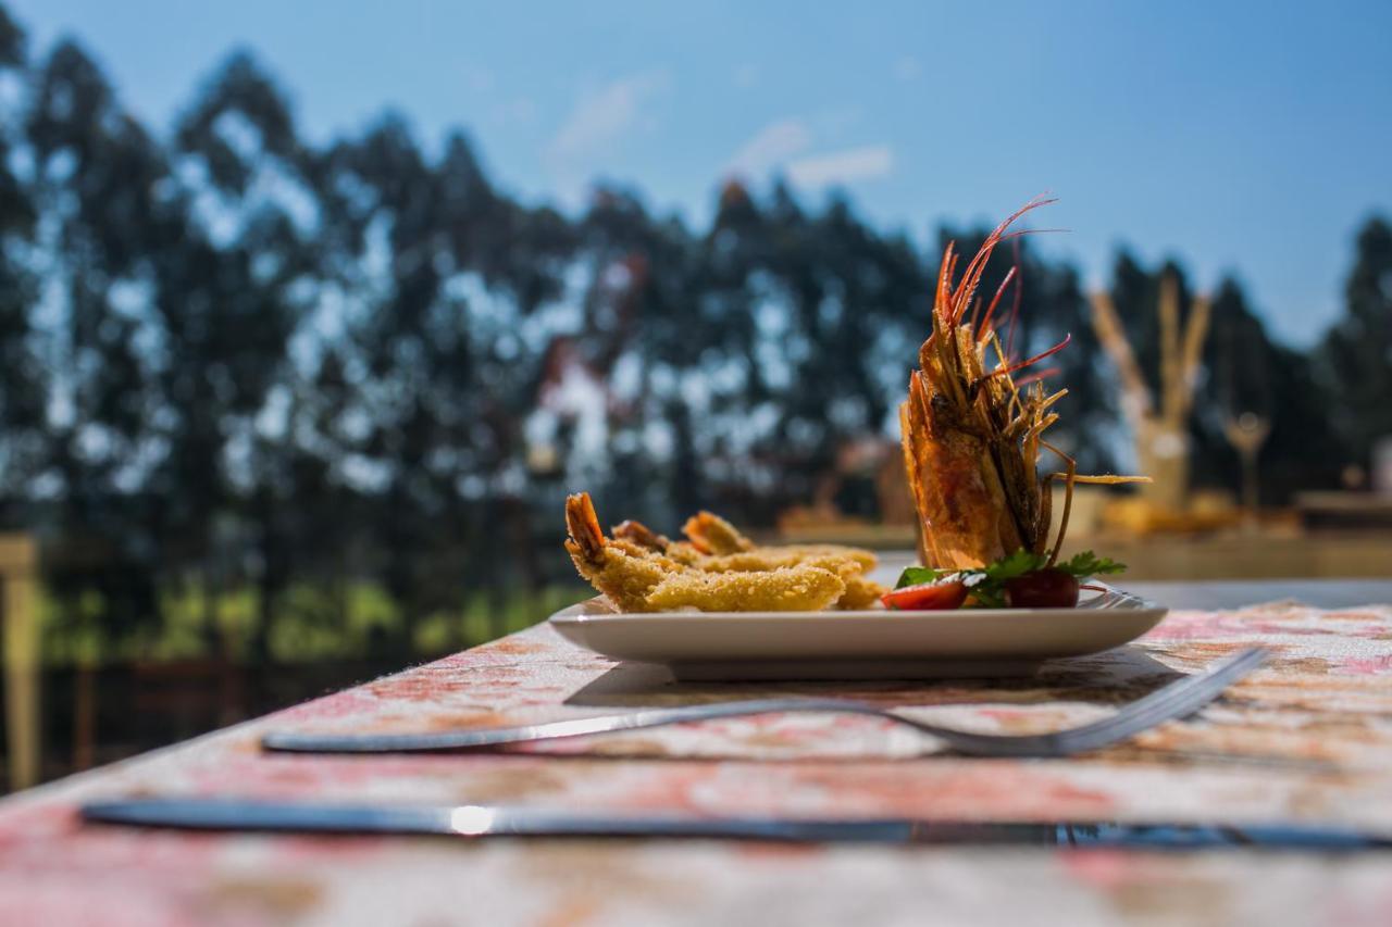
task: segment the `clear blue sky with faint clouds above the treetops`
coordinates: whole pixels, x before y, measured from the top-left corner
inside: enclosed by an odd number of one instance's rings
[[[1093,283],[1126,242],[1235,271],[1281,335],[1340,306],[1357,225],[1392,212],[1392,3],[337,3],[10,0],[77,35],[167,127],[252,49],[326,139],[387,107],[465,128],[501,185],[594,177],[710,214],[732,171],[832,185],[928,241],[1062,198],[1043,246]],[[1040,239],[1041,242],[1044,239]]]

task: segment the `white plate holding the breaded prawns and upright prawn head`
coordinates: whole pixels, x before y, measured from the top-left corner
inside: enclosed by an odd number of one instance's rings
[[[567,640],[679,679],[1027,675],[1044,660],[1134,640],[1168,610],[1118,589],[1077,608],[615,612],[604,597],[551,615]]]

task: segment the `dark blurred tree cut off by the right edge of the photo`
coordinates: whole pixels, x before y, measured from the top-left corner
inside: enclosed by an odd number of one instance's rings
[[[1392,225],[1375,216],[1359,231],[1345,283],[1345,315],[1320,348],[1332,390],[1328,415],[1361,468],[1392,436]]]

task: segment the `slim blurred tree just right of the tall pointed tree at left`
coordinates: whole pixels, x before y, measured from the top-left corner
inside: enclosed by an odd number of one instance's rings
[[[468,472],[459,443],[472,409],[441,401],[447,384],[470,373],[464,306],[441,298],[452,255],[436,177],[402,120],[388,116],[362,139],[335,143],[316,181],[327,241],[341,248],[327,259],[341,273],[344,367],[356,384],[338,409],[349,426],[342,450],[380,500],[383,578],[408,617],[384,644],[405,647],[415,621],[458,604],[455,578],[427,554],[458,550],[468,526],[454,501]],[[444,355],[454,355],[451,369],[441,367]]]

